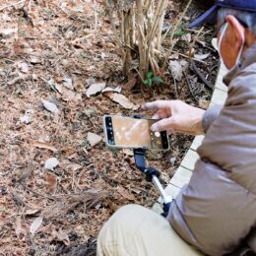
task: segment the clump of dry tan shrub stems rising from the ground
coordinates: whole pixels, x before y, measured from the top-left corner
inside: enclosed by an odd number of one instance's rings
[[[149,71],[155,76],[163,76],[175,44],[173,33],[181,24],[191,2],[192,0],[188,1],[184,12],[163,33],[165,11],[171,6],[168,0],[105,0],[106,11],[122,55],[125,76],[131,79],[136,71],[141,82],[146,80]],[[164,51],[162,43],[170,31],[170,49]]]

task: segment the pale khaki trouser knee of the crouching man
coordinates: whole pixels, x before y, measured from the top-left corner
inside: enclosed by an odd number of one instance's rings
[[[128,205],[103,225],[97,238],[97,256],[199,256],[159,214]]]

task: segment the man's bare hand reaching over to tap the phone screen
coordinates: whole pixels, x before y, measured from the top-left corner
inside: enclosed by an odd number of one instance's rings
[[[202,119],[205,110],[186,104],[180,100],[157,100],[142,105],[143,110],[157,110],[154,119],[160,119],[151,130],[153,132],[204,134]]]

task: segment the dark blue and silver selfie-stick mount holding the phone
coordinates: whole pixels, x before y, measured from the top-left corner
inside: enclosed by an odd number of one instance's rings
[[[142,116],[135,115],[134,118],[141,119]],[[172,197],[166,194],[162,185],[160,184],[160,180],[159,180],[160,172],[154,167],[147,167],[146,156],[145,156],[146,152],[147,152],[147,148],[139,148],[139,149],[133,150],[135,164],[140,171],[146,174],[146,180],[149,182],[153,182],[158,188],[158,190],[160,191],[160,197],[162,200],[162,210],[163,210],[163,213],[161,215],[163,217],[167,217],[168,210],[172,202]]]

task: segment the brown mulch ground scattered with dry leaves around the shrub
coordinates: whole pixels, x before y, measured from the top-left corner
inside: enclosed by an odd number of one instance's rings
[[[182,2],[170,2],[166,25],[182,13]],[[207,108],[212,90],[200,76],[215,83],[214,31],[186,30],[202,10],[190,6],[175,32],[164,84],[132,88],[101,1],[1,1],[1,255],[95,255],[100,227],[120,206],[154,204],[159,193],[136,169],[131,152],[111,151],[103,142],[103,114],[140,110],[104,93],[89,97],[88,90],[120,87],[135,106],[179,98]],[[168,152],[148,154],[163,184],[192,139],[172,135]]]

